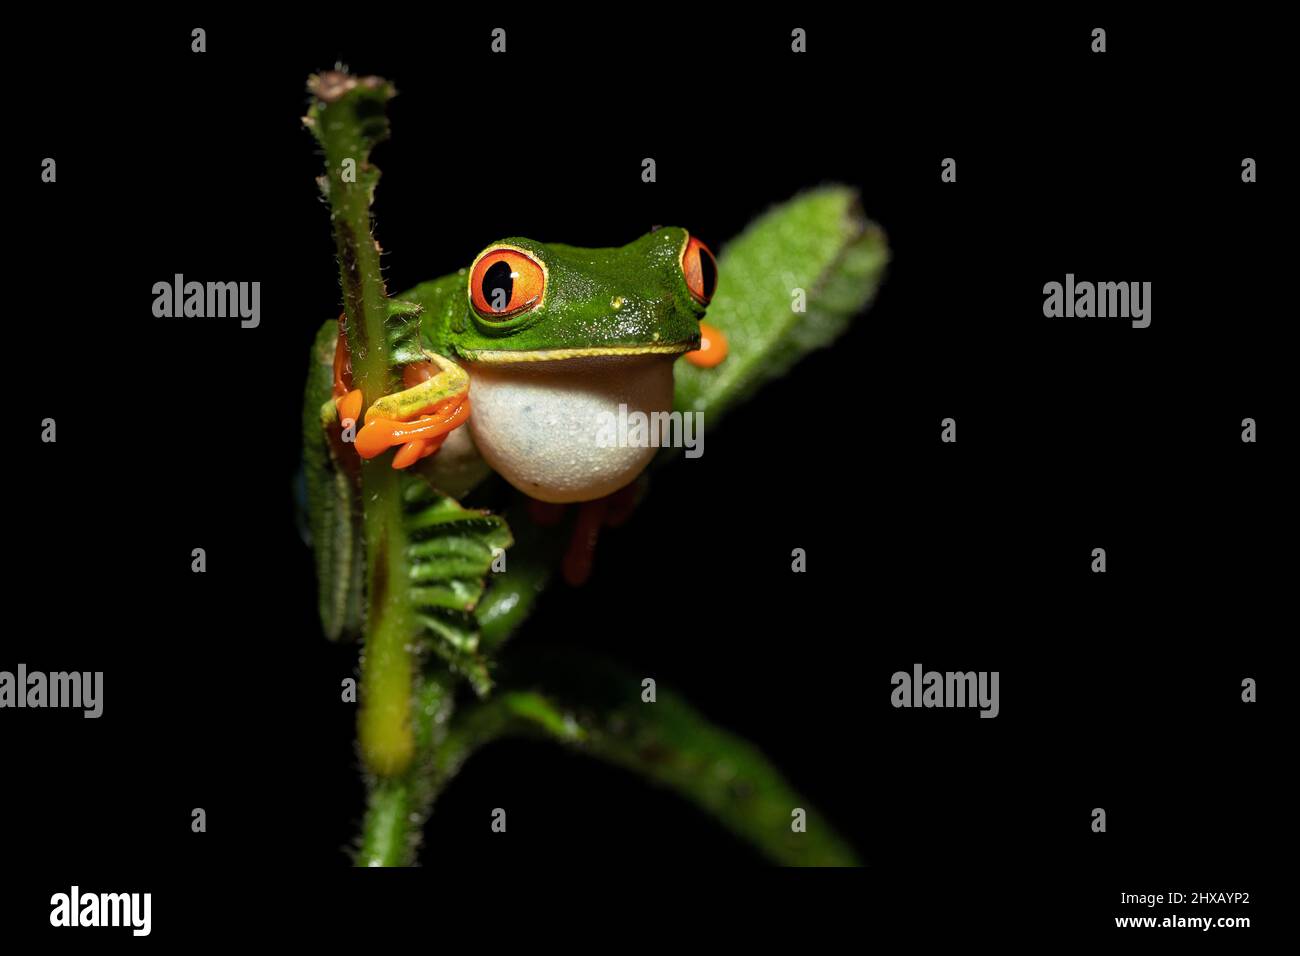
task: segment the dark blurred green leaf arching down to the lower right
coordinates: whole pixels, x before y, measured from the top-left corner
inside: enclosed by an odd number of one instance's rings
[[[586,691],[573,675],[586,672]],[[586,662],[547,658],[547,683],[568,675],[564,695],[504,692],[458,713],[434,763],[447,780],[480,747],[503,736],[541,736],[632,770],[667,787],[750,842],[777,864],[853,866],[853,849],[749,741],[711,723],[659,688],[641,701],[641,684]],[[592,688],[595,688],[594,692]],[[806,812],[806,831],[790,827]]]

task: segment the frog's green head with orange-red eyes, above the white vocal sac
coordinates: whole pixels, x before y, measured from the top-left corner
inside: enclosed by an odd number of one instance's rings
[[[503,239],[469,267],[451,342],[471,364],[680,355],[699,347],[718,267],[685,229],[621,248]]]

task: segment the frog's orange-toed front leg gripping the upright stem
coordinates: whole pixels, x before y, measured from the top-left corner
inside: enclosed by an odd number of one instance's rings
[[[347,346],[339,332],[335,351],[334,401],[342,420],[361,410],[361,393],[350,388]],[[354,447],[361,458],[374,458],[395,445],[394,468],[406,468],[437,451],[447,434],[469,419],[469,375],[451,359],[429,354],[402,369],[406,389],[381,395],[365,410],[365,423]]]

